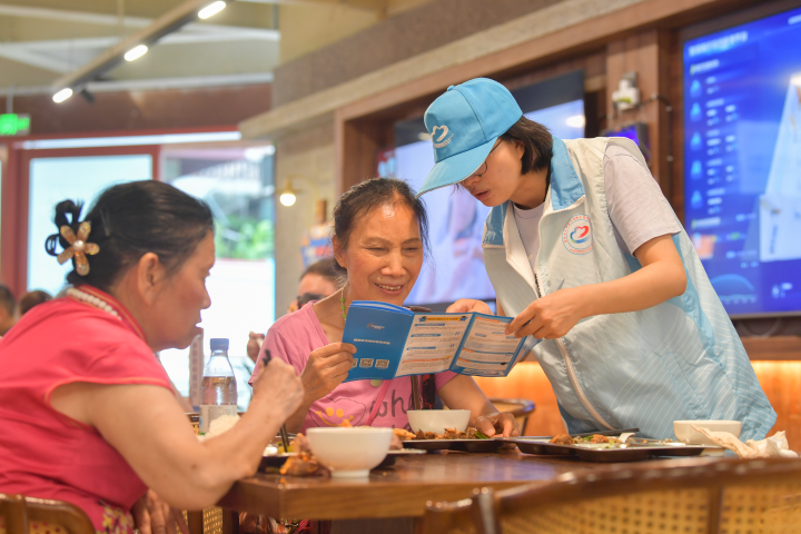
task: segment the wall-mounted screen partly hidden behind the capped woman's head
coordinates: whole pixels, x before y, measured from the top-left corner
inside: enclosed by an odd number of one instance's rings
[[[554,136],[584,136],[584,76],[581,71],[512,91],[526,117]],[[378,155],[379,176],[395,176],[419,189],[434,167],[434,148],[423,118],[397,122],[393,150]],[[423,197],[429,218],[432,256],[407,304],[437,305],[458,298],[490,300],[495,290],[484,268],[482,234],[490,208],[464,189],[444,187]],[[435,306],[436,307],[436,306]]]

